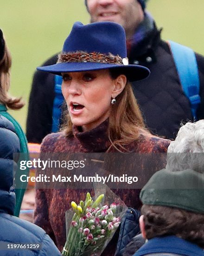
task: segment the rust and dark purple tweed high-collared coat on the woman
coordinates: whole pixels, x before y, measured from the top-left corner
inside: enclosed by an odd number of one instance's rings
[[[98,153],[106,152],[110,146],[108,140],[108,120],[97,128],[87,132],[79,132],[73,128],[74,136],[67,138],[63,132],[49,134],[43,140],[42,153]],[[155,136],[141,135],[138,140],[126,146],[135,153],[164,153],[170,141]],[[117,152],[112,147],[108,152]],[[162,168],[163,166],[161,166]],[[65,211],[70,208],[71,201],[79,202],[85,199],[86,189],[37,189],[34,223],[42,227],[62,251],[66,240]],[[129,207],[139,209],[139,189],[115,189],[115,194],[121,197]],[[117,239],[111,240],[102,256],[114,256]]]

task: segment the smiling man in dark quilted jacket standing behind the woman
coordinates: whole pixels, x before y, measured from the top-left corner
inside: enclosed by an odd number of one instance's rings
[[[147,128],[153,134],[174,139],[181,122],[193,121],[191,105],[181,87],[167,42],[160,38],[153,17],[146,12],[147,0],[85,0],[91,22],[113,21],[121,24],[127,36],[129,64],[141,64],[150,76],[133,83]],[[115,38],[115,44],[117,38]],[[201,103],[197,119],[204,118],[204,57],[196,53]],[[55,64],[57,55],[43,65]],[[49,95],[48,95],[49,93]],[[40,143],[52,131],[55,76],[36,71],[29,101],[27,139]],[[58,106],[57,106],[58,108]],[[38,120],[38,122],[36,122]]]

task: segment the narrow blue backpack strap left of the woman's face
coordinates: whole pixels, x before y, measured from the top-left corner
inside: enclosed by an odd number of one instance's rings
[[[62,95],[62,77],[55,75],[55,98],[52,108],[52,133],[56,133],[59,130],[60,117],[62,115],[62,103],[64,97]]]

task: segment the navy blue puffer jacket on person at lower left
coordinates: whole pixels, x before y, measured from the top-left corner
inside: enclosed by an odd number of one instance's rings
[[[20,152],[19,138],[13,124],[0,115],[0,256],[60,256],[59,250],[43,229],[13,216],[15,193],[13,154]],[[40,249],[9,249],[9,244],[28,244]]]

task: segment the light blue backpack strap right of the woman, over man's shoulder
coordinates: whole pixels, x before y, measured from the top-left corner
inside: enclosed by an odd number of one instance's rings
[[[180,83],[191,103],[193,118],[197,120],[196,112],[201,99],[199,96],[200,80],[195,53],[191,48],[184,45],[172,41],[169,41],[169,43]]]

